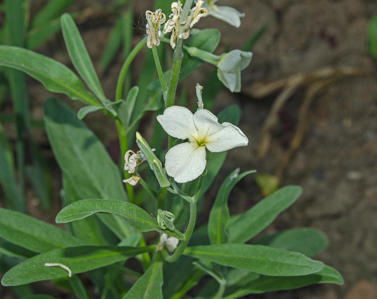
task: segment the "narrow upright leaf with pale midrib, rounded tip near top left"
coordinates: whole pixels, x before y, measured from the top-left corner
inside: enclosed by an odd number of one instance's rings
[[[69,14],[65,13],[60,17],[60,24],[69,57],[76,71],[98,99],[101,101],[105,100],[106,96],[103,93],[100,80],[95,72],[92,60],[90,60],[75,21]]]

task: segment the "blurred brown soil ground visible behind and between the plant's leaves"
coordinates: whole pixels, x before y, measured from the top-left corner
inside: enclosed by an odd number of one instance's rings
[[[46,1],[32,1],[31,13]],[[83,11],[96,5],[109,5],[107,1],[78,0],[70,11]],[[216,54],[221,54],[228,44],[240,49],[265,23],[267,31],[253,48],[253,59],[242,71],[243,91],[253,82],[266,82],[287,78],[299,72],[309,72],[324,66],[352,66],[365,70],[363,76],[339,80],[316,97],[310,107],[308,129],[303,141],[284,172],[280,185],[297,184],[303,195],[282,213],[262,234],[279,230],[309,226],[323,231],[329,246],[314,257],[336,268],[343,275],[345,284],[313,285],[294,291],[280,291],[247,298],[305,298],[353,299],[377,298],[377,74],[376,63],[368,54],[366,32],[368,21],[377,13],[377,2],[372,0],[219,0],[216,4],[233,6],[245,13],[241,26],[234,28],[213,17],[202,18],[199,29],[218,28],[222,38]],[[152,10],[153,1],[135,2],[135,45],[144,34],[144,13]],[[93,18],[79,26],[84,42],[98,67],[106,39],[114,19]],[[61,34],[38,47],[38,52],[48,55],[72,68]],[[136,84],[143,53],[132,65],[133,85]],[[116,79],[122,66],[119,53],[100,80],[109,99],[114,98]],[[204,85],[213,67],[204,64],[185,80],[188,102],[196,102],[195,85]],[[31,115],[42,118],[43,101],[51,96],[43,86],[29,78]],[[181,88],[182,85],[179,85]],[[241,171],[256,169],[259,173],[274,174],[284,158],[297,123],[297,114],[305,89],[299,89],[288,100],[279,115],[280,122],[274,130],[270,150],[264,159],[257,158],[257,148],[262,126],[276,94],[254,99],[247,92],[232,94],[226,88],[219,93],[213,112],[216,114],[231,104],[241,107],[239,127],[247,135],[250,145],[228,153],[215,183],[207,192],[199,215],[199,224],[208,219],[217,190],[225,177],[237,167]],[[78,110],[81,104],[59,99]],[[205,104],[205,103],[204,103]],[[2,111],[11,111],[10,100]],[[154,117],[147,114],[141,128],[148,136]],[[93,113],[85,121],[104,142],[110,154],[117,154],[116,128],[110,119]],[[287,126],[287,123],[290,124]],[[8,137],[15,140],[15,130],[5,126]],[[28,190],[28,212],[34,217],[54,223],[60,210],[60,170],[54,160],[44,131],[35,130],[34,136],[48,157],[54,176],[54,213],[46,214],[39,207],[38,199]],[[136,148],[136,146],[135,146]],[[229,197],[231,214],[242,213],[262,198],[253,179],[247,176]],[[41,285],[35,284],[35,288]],[[45,290],[54,291],[52,284]],[[48,292],[48,291],[46,291]],[[9,289],[0,288],[2,298],[14,298]],[[51,293],[54,294],[54,293]],[[64,295],[64,296],[63,296]],[[61,295],[64,298],[69,294]],[[58,295],[57,295],[58,296]]]

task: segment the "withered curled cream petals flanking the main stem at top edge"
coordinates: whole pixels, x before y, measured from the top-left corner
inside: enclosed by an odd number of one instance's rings
[[[172,14],[164,26],[164,33],[172,32],[170,36],[170,45],[175,48],[175,39],[187,39],[190,35],[190,29],[199,22],[201,17],[207,15],[207,9],[202,8],[204,1],[198,0],[196,5],[190,9],[190,14],[187,16],[184,22],[180,21],[182,13],[181,1],[172,3]]]

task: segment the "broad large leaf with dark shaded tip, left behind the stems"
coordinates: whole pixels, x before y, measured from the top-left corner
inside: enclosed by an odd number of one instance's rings
[[[59,166],[69,176],[79,197],[127,200],[118,166],[74,111],[57,99],[47,99],[44,122]],[[100,218],[120,239],[132,233],[117,217]]]

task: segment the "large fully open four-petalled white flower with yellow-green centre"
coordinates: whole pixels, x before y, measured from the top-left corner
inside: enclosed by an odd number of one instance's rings
[[[241,129],[227,122],[220,124],[207,109],[192,114],[185,107],[172,106],[157,120],[170,136],[189,139],[170,148],[165,156],[166,172],[178,183],[189,182],[203,173],[207,163],[205,148],[219,153],[249,142]]]

